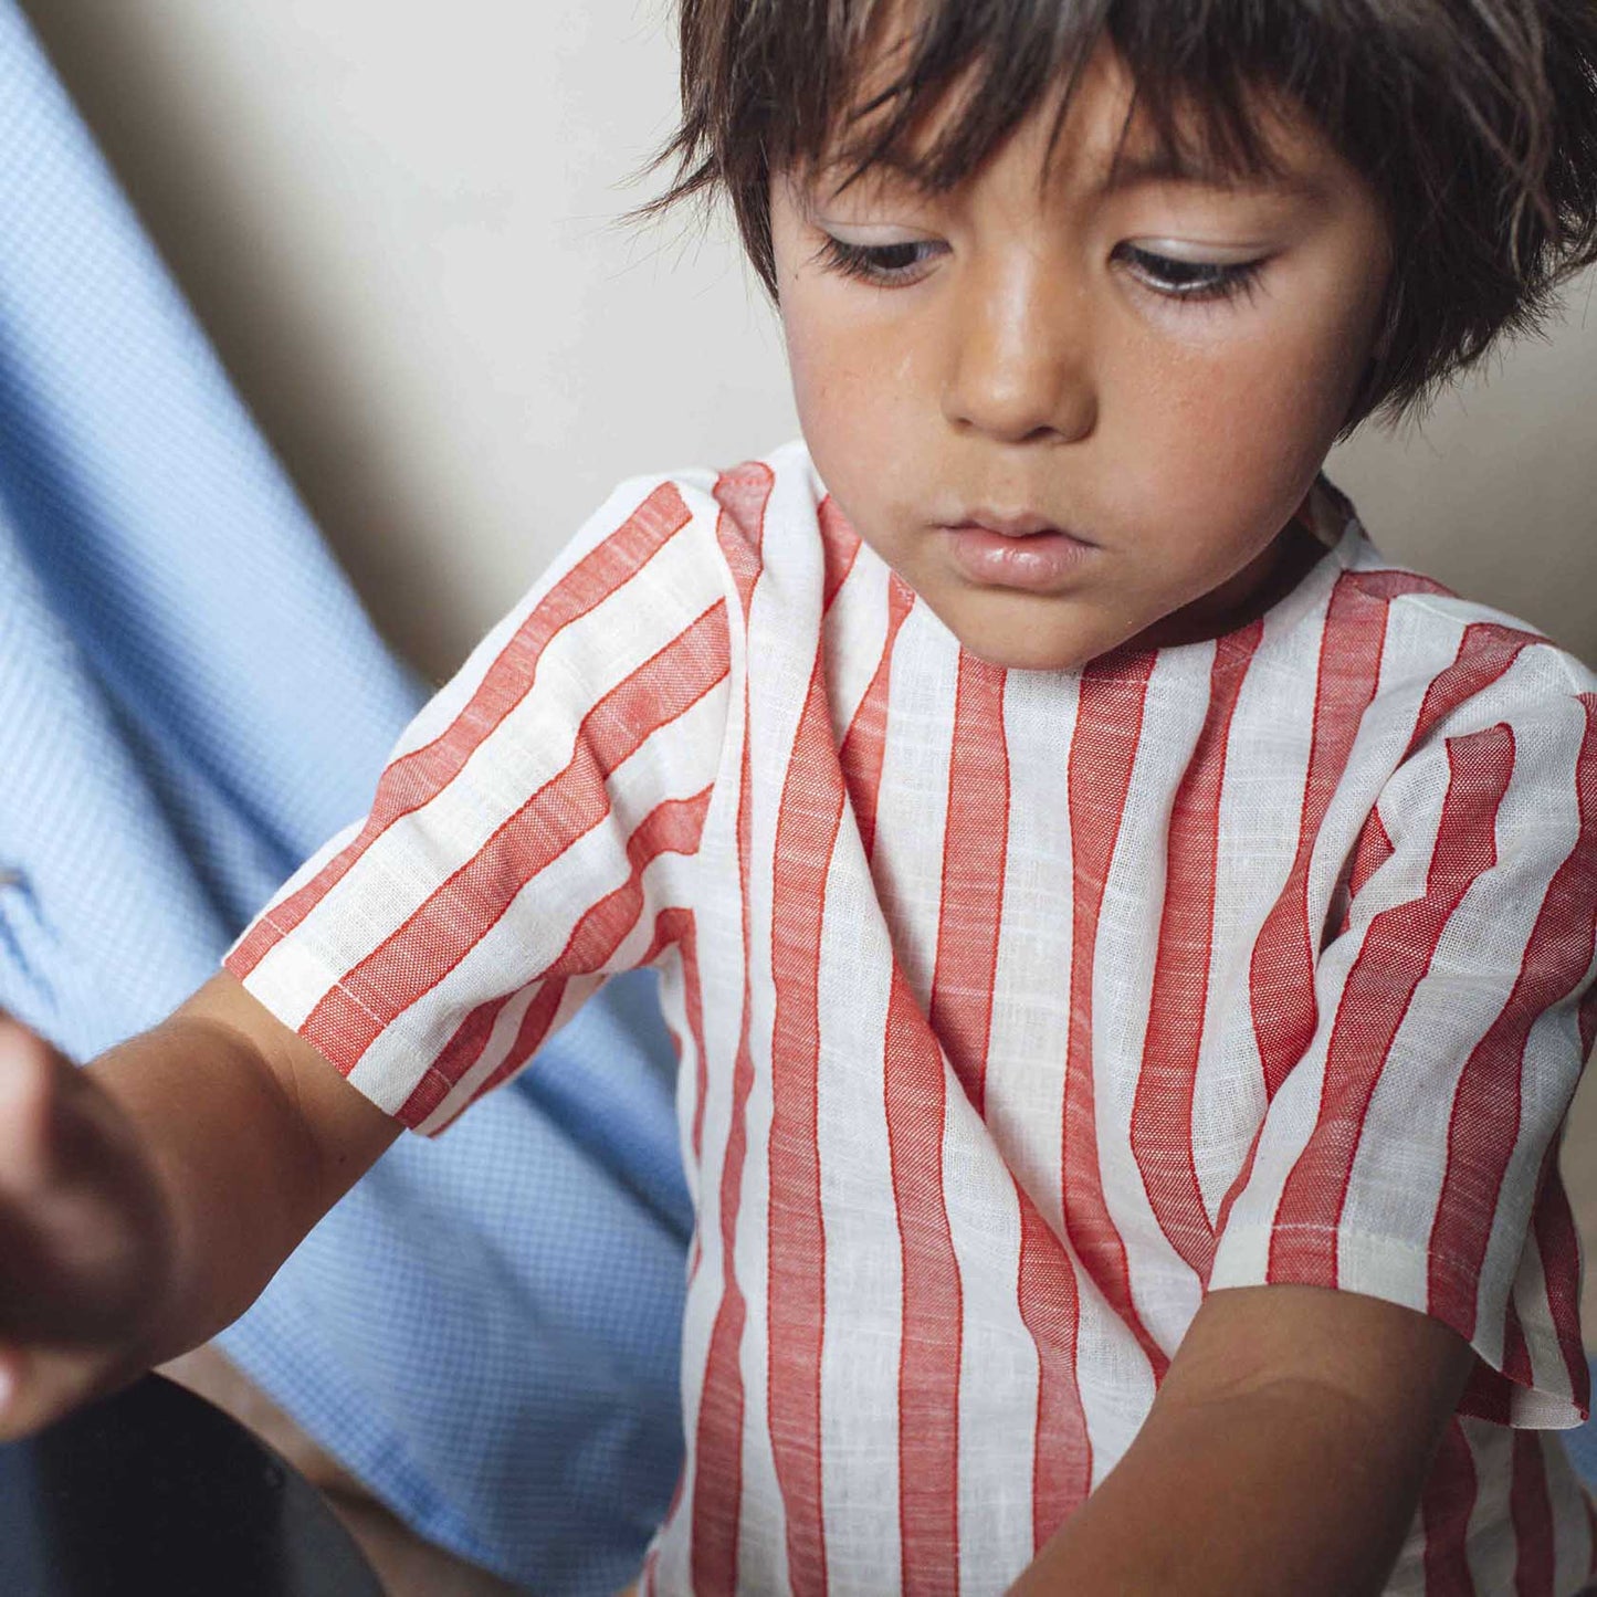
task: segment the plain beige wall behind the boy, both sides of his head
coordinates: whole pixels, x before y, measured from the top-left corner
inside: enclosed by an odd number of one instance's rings
[[[629,473],[794,431],[723,232],[616,219],[669,0],[32,0],[385,631],[434,676]],[[1332,463],[1389,553],[1597,660],[1597,310]]]

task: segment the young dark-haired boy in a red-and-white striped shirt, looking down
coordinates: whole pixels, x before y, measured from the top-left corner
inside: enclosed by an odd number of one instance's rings
[[[1578,1591],[1597,677],[1319,465],[1597,256],[1597,16],[688,0],[684,86],[803,446],[620,489],[163,1027],[13,1028],[0,1431],[656,963],[645,1589]]]

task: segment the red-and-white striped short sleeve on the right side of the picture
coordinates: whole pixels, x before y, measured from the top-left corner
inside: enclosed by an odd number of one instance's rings
[[[1477,1354],[1461,1413],[1567,1428],[1589,1413],[1557,1153],[1592,1040],[1597,696],[1562,664],[1525,677],[1381,791],[1318,961],[1313,1041],[1222,1212],[1209,1287],[1431,1314]]]

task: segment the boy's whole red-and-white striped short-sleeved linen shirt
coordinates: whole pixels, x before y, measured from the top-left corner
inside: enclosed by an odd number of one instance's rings
[[[696,1228],[647,1591],[1001,1591],[1260,1282],[1477,1354],[1388,1591],[1591,1576],[1597,679],[1324,479],[1300,516],[1260,620],[1035,672],[802,446],[629,482],[235,945],[428,1134],[661,973]]]

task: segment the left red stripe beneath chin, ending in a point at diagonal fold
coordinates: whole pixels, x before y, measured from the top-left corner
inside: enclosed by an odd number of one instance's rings
[[[998,976],[1009,848],[1008,674],[960,655],[942,837],[942,894],[931,979],[931,1030],[976,1113],[985,1112],[987,1033]]]

